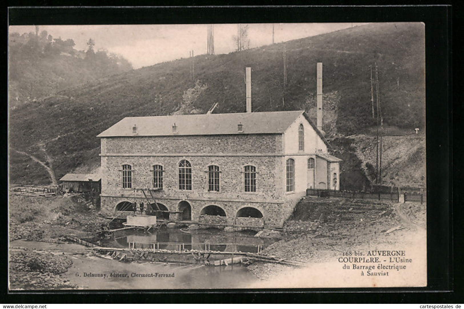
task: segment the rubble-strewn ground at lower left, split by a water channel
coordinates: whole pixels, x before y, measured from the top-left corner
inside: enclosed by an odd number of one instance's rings
[[[9,196],[10,242],[18,239],[60,243],[63,236],[93,237],[107,219],[79,194],[64,197]],[[10,289],[50,290],[75,288],[60,277],[72,265],[63,252],[10,248]]]

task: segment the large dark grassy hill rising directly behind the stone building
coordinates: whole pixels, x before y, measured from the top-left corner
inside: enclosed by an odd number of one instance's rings
[[[123,117],[206,112],[215,102],[215,113],[245,111],[246,66],[252,68],[253,111],[306,109],[314,114],[317,62],[324,66],[329,104],[323,129],[330,134],[351,135],[372,127],[369,65],[374,62],[384,123],[422,129],[424,40],[421,24],[372,24],[227,55],[196,56],[194,77],[189,58],[101,78],[11,111],[10,146],[44,161],[58,178],[76,168],[97,167],[95,136]],[[13,149],[13,183],[50,182],[44,167]]]

